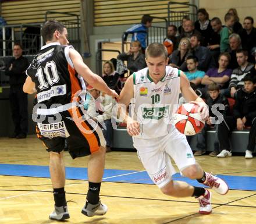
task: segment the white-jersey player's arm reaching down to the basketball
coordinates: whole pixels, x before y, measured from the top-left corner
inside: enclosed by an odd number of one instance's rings
[[[209,116],[208,106],[205,104],[201,97],[198,97],[193,88],[191,88],[186,74],[180,74],[180,91],[187,102],[193,102],[199,106],[198,112],[201,112],[202,119]]]

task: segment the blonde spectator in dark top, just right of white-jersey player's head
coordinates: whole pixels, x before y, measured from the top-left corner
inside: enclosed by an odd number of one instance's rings
[[[176,51],[173,51],[169,56],[169,66],[176,67],[182,71],[187,71],[186,56],[190,52],[190,40],[189,38],[182,38],[179,43],[179,47]]]

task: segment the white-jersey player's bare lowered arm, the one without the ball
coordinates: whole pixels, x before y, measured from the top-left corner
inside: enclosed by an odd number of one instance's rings
[[[120,93],[118,101],[118,117],[122,118],[123,122],[127,124],[126,128],[128,134],[130,134],[130,136],[137,136],[140,133],[140,124],[136,120],[133,120],[126,112],[126,108],[130,104],[133,96],[133,76],[130,76],[126,80],[125,86]],[[122,105],[125,105],[125,109],[121,109]]]

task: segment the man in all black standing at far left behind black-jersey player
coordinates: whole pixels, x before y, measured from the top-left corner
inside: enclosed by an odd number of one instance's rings
[[[26,80],[26,69],[29,61],[22,56],[22,46],[16,43],[13,46],[13,56],[6,65],[5,74],[10,76],[10,109],[15,126],[11,138],[26,138],[29,118],[27,111],[27,93],[22,88]]]

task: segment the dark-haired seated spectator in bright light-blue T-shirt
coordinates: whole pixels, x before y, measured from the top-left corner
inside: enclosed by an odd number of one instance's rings
[[[204,77],[204,72],[197,70],[198,61],[194,56],[187,56],[186,59],[188,72],[184,72],[189,79],[190,83],[194,83],[196,87],[201,84],[201,80]]]

